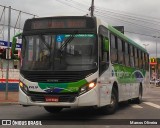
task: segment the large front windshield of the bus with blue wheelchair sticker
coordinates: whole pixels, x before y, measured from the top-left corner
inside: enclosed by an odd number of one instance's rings
[[[94,34],[23,37],[22,70],[82,71],[97,67]]]

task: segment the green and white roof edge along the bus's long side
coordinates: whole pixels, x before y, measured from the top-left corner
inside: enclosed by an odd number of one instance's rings
[[[136,42],[134,42],[133,40],[129,39],[128,37],[126,37],[124,34],[122,34],[120,31],[118,31],[117,29],[115,29],[114,27],[112,27],[111,25],[108,25],[108,29],[113,32],[114,34],[116,34],[117,36],[119,36],[120,38],[124,39],[125,41],[127,41],[128,43],[132,44],[133,46],[135,46],[136,48],[142,50],[145,53],[148,53],[146,49],[144,49],[142,46],[140,46],[139,44],[137,44]]]

